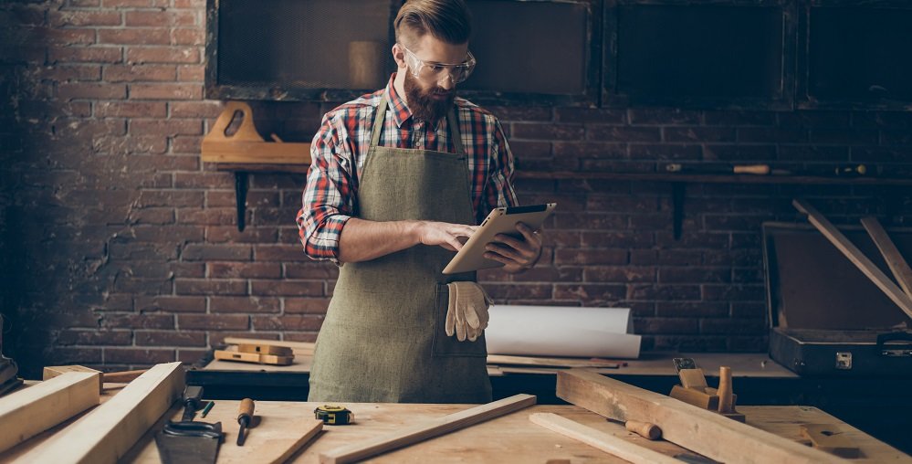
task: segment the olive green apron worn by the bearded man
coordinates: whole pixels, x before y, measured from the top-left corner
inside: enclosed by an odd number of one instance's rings
[[[456,154],[378,146],[388,102],[373,121],[360,175],[358,211],[371,221],[422,219],[475,224],[468,162],[454,111],[447,128]],[[491,400],[487,347],[444,332],[446,283],[455,255],[417,245],[341,267],[310,369],[309,401],[486,403]]]

